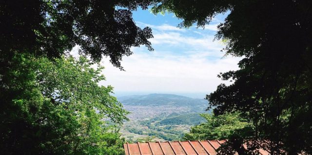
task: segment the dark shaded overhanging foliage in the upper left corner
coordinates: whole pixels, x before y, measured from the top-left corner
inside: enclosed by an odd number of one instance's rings
[[[108,56],[122,68],[120,60],[132,54],[130,47],[153,50],[147,40],[153,37],[152,30],[136,26],[131,13],[150,4],[149,0],[2,0],[0,62],[11,60],[13,52],[59,57],[79,45],[80,52],[94,60]]]

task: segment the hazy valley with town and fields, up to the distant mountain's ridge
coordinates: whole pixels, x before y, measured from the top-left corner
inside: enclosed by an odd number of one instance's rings
[[[155,141],[180,140],[191,126],[204,122],[199,113],[207,113],[207,101],[170,94],[118,97],[130,121],[120,132],[127,141],[152,137]]]

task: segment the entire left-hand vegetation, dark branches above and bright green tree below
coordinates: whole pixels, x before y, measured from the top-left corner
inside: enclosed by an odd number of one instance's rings
[[[0,1],[0,150],[4,155],[122,154],[122,139],[102,119],[121,123],[127,112],[98,86],[108,56],[122,69],[130,47],[149,50],[151,29],[132,10],[146,0]],[[121,6],[115,9],[115,6]],[[64,53],[79,47],[75,60]]]

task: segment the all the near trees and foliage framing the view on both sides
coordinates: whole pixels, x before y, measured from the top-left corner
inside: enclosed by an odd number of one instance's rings
[[[216,75],[224,83],[205,97],[213,114],[182,139],[228,139],[219,155],[250,155],[260,144],[271,155],[312,155],[311,8],[312,0],[1,0],[1,154],[124,154],[117,126],[129,112],[113,86],[98,85],[100,60],[124,70],[132,47],[154,50],[152,29],[133,20],[143,9],[172,13],[181,28],[226,14],[215,40],[224,57],[242,58]]]

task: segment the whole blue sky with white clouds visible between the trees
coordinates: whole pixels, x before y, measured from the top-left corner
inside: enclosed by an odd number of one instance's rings
[[[105,81],[100,85],[114,87],[115,95],[144,95],[168,93],[188,97],[204,98],[215,91],[222,81],[220,72],[238,69],[241,58],[224,56],[221,49],[225,46],[215,40],[216,26],[225,15],[217,15],[205,28],[177,28],[182,21],[173,14],[154,15],[149,10],[133,12],[137,26],[152,28],[154,51],[146,47],[133,47],[134,52],[124,57],[120,71],[103,58]]]

